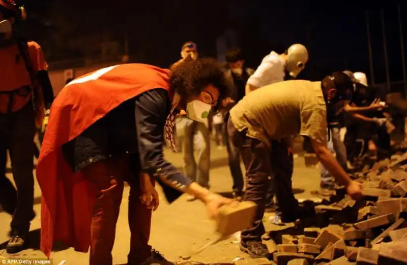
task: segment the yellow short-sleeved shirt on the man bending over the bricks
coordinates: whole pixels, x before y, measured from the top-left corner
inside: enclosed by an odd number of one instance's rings
[[[321,82],[290,80],[258,88],[230,110],[235,127],[270,146],[300,134],[327,142],[327,109]]]

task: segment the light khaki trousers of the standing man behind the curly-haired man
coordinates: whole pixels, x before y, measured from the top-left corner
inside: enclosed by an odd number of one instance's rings
[[[177,138],[182,147],[185,175],[202,187],[209,188],[211,143],[208,122],[178,117]]]

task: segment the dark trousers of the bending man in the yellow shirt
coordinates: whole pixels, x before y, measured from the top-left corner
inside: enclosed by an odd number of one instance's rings
[[[283,218],[298,216],[299,205],[293,194],[291,178],[293,175],[293,158],[288,154],[284,142],[273,141],[270,148],[265,143],[248,137],[247,131],[238,131],[231,120],[228,121],[229,136],[240,149],[246,168],[245,201],[257,204],[253,226],[242,231],[242,242],[261,241],[265,233],[262,222],[266,197],[272,179],[275,179],[277,201]]]

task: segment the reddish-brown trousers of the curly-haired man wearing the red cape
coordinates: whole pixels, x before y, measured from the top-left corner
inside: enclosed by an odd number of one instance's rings
[[[123,197],[124,181],[130,185],[129,216],[130,253],[129,265],[139,265],[151,255],[149,246],[151,210],[141,204],[139,180],[130,170],[127,159],[112,159],[93,163],[82,170],[98,193],[91,225],[90,265],[112,265],[111,251],[116,235]]]

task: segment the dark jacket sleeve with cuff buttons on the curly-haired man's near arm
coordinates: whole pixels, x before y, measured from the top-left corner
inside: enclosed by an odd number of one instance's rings
[[[164,89],[152,89],[136,97],[135,119],[138,152],[142,173],[179,189],[186,188],[192,180],[181,174],[163,155],[164,125],[170,109],[168,93]]]

